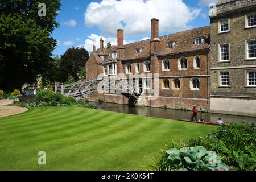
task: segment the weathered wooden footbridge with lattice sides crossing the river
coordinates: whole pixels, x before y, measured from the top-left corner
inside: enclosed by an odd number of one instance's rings
[[[108,92],[113,89],[115,93],[122,94],[129,98],[130,102],[137,102],[142,94],[142,85],[135,86],[133,80],[122,80],[122,84],[118,84],[119,80],[81,80],[72,84],[61,86],[55,85],[55,93],[61,93],[66,97],[74,97],[76,100],[85,98],[91,93]]]

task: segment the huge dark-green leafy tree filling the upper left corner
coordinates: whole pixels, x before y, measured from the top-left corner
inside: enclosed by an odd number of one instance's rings
[[[59,0],[42,0],[46,17],[39,17],[39,1],[0,1],[0,88],[13,90],[23,84],[32,84],[40,75],[51,81],[55,63],[51,57],[56,40],[52,31],[56,22]]]

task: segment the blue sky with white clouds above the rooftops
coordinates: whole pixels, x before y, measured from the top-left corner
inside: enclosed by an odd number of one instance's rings
[[[117,28],[125,30],[125,43],[150,37],[150,19],[158,18],[160,35],[209,25],[208,5],[216,0],[61,0],[53,31],[58,42],[54,55],[84,46],[92,51],[103,37],[115,44]]]

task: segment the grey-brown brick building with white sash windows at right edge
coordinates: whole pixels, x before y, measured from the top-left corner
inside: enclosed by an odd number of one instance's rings
[[[210,18],[210,109],[256,117],[256,1],[219,1]]]

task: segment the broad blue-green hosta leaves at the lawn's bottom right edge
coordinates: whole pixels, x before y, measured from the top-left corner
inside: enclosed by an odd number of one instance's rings
[[[221,158],[214,151],[207,151],[203,146],[183,147],[179,150],[170,148],[163,155],[160,163],[162,170],[174,171],[227,171],[228,166],[221,163]]]

